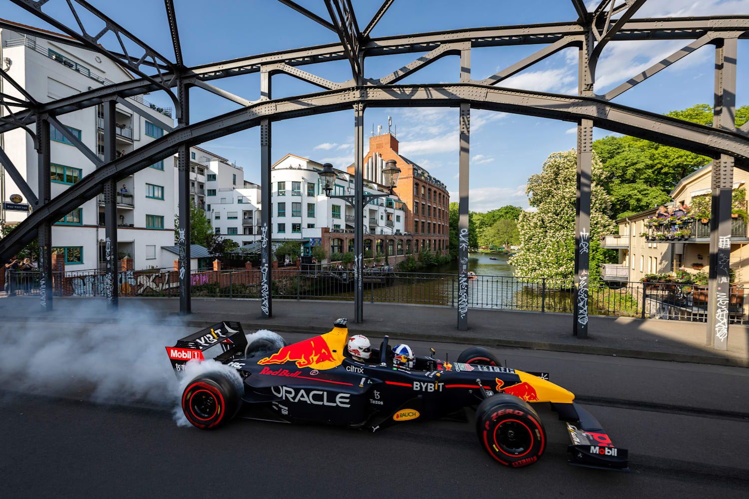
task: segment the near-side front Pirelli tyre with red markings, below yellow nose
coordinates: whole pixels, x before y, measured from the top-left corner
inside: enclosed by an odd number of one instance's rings
[[[484,399],[476,409],[476,434],[491,457],[519,468],[538,461],[546,447],[546,431],[528,402],[510,394]]]

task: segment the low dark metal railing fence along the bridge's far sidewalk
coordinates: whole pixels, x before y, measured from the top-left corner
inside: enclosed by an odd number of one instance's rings
[[[458,306],[458,276],[392,272],[393,267],[367,269],[363,275],[364,299],[370,303]],[[16,296],[39,293],[39,271],[10,272],[7,290]],[[52,276],[56,296],[104,296],[105,272],[83,270]],[[260,270],[197,269],[190,276],[193,297],[259,299]],[[118,276],[120,296],[179,296],[174,269],[123,271]],[[518,278],[476,275],[468,280],[468,307],[497,310],[572,313],[571,279]],[[304,265],[273,271],[271,293],[276,299],[354,301],[354,272],[330,266]],[[729,321],[748,322],[749,304],[744,287],[731,286]],[[704,322],[707,318],[706,286],[674,283],[589,283],[588,313]]]

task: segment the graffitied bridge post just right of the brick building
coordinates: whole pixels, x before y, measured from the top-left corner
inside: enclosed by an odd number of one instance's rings
[[[468,329],[468,169],[470,159],[470,104],[461,103],[458,160],[458,330]]]

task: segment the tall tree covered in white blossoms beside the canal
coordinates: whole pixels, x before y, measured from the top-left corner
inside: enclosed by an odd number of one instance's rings
[[[511,257],[515,275],[523,278],[572,278],[574,275],[574,212],[577,152],[552,153],[540,174],[528,179],[526,194],[536,212],[523,212],[518,221],[520,251]],[[611,202],[603,189],[607,174],[593,153],[590,209],[590,280],[598,279],[607,251],[599,236],[613,233]]]

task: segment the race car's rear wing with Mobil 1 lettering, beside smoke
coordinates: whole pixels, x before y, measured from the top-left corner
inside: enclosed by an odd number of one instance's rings
[[[242,325],[225,320],[177,340],[175,346],[166,347],[166,355],[169,355],[176,373],[184,370],[184,365],[192,359],[204,361],[212,358],[223,363],[237,354],[243,355],[246,346],[247,337]]]

